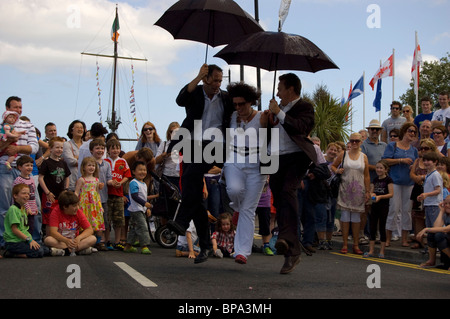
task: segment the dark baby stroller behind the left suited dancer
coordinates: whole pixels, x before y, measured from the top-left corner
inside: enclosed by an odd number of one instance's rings
[[[171,183],[165,176],[159,177],[151,172],[155,181],[159,184],[159,197],[154,200],[151,221],[155,231],[150,231],[150,238],[163,248],[175,248],[178,236],[171,231],[166,222],[176,217],[181,205],[181,194],[178,187]]]

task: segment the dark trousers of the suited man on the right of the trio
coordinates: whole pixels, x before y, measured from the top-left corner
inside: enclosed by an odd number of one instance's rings
[[[311,160],[304,152],[281,155],[278,171],[269,179],[273,203],[277,210],[278,239],[284,239],[289,245],[286,257],[301,253],[297,189],[310,163]]]

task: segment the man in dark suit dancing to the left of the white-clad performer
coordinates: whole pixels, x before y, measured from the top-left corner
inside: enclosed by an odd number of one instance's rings
[[[223,149],[224,141],[218,136],[215,136],[214,141],[207,137],[203,138],[203,136],[206,136],[203,133],[206,129],[215,128],[217,129],[216,132],[220,132],[222,137],[225,136],[225,129],[229,127],[231,114],[234,111],[228,93],[220,89],[222,77],[223,71],[221,68],[216,65],[204,64],[198,75],[181,89],[176,99],[177,104],[186,109],[186,118],[181,128],[190,132],[190,141],[188,141],[188,144],[186,142],[183,144],[184,146],[188,145],[190,150],[188,152],[181,149],[183,153],[182,203],[178,215],[175,220],[168,222],[168,227],[179,235],[185,235],[190,221],[194,221],[201,249],[200,254],[195,258],[195,263],[206,261],[212,249],[208,214],[202,204],[203,176],[213,166],[220,167],[223,165],[223,158],[216,162],[205,161],[203,151],[208,146],[208,149],[210,149],[211,143],[215,143],[215,147]],[[200,81],[203,81],[202,85],[199,84]],[[201,132],[202,136],[197,136],[199,135],[196,134],[197,132]],[[177,142],[178,140],[174,139],[172,144],[175,145]],[[199,154],[200,151],[202,154]]]

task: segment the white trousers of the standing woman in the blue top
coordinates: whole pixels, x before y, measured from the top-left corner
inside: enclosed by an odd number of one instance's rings
[[[411,191],[413,185],[394,184],[394,196],[389,200],[389,214],[386,220],[386,229],[400,236],[402,230],[412,229]]]

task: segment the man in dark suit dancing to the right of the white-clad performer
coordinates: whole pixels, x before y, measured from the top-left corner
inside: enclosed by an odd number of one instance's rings
[[[300,99],[300,91],[301,82],[295,74],[281,75],[277,92],[280,105],[272,99],[266,111],[272,113],[272,126],[279,129],[279,140],[270,142],[271,156],[279,156],[279,168],[269,182],[279,227],[275,247],[278,254],[285,256],[281,274],[291,272],[300,262],[297,188],[311,164],[317,163],[316,151],[308,138],[314,127],[314,108]]]

